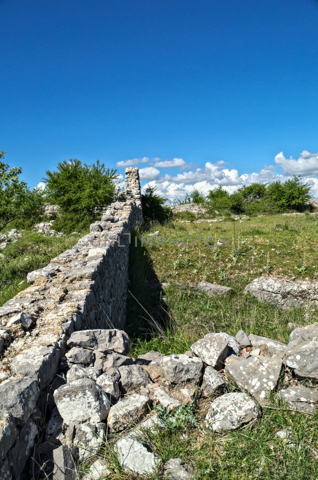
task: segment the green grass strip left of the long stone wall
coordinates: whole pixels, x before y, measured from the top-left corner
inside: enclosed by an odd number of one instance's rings
[[[30,230],[19,230],[23,237],[10,242],[0,258],[0,306],[29,285],[26,276],[42,268],[61,252],[76,244],[82,234],[49,237]],[[2,232],[3,233],[3,232]]]

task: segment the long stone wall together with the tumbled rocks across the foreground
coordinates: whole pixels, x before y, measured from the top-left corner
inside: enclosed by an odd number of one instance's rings
[[[194,480],[200,472],[182,458],[163,461],[147,441],[168,428],[162,408],[205,398],[198,421],[217,433],[257,422],[270,396],[280,408],[309,415],[317,408],[310,381],[318,380],[318,323],[296,326],[288,344],[242,330],[210,332],[185,353],[129,356],[129,231],[142,221],[137,168],[126,169],[126,186],[126,202],[106,208],[88,235],[30,272],[30,287],[0,308],[1,480],[114,478],[114,465],[96,456],[100,447],[112,448],[132,477]],[[280,389],[284,371],[290,380]],[[276,435],[288,447],[296,442],[288,429]]]

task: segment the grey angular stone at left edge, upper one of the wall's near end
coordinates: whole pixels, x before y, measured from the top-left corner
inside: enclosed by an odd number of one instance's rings
[[[0,384],[0,409],[10,411],[16,425],[21,425],[30,417],[39,395],[35,380],[9,378]]]

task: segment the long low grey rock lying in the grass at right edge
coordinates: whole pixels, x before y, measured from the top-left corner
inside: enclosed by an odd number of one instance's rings
[[[257,300],[285,310],[301,307],[310,302],[318,304],[318,282],[261,276],[245,287],[244,293],[247,292]]]

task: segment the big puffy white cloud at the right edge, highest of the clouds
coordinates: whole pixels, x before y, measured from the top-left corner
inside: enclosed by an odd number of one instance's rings
[[[303,150],[297,160],[292,156],[287,160],[280,152],[275,156],[275,163],[283,168],[285,175],[318,175],[318,153]]]

